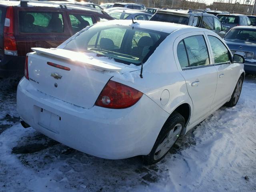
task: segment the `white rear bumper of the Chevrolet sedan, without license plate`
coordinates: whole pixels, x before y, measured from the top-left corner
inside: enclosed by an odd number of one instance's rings
[[[85,109],[38,92],[30,83],[23,78],[18,85],[17,110],[22,120],[58,142],[100,158],[149,154],[169,116],[145,95],[126,109]],[[41,108],[61,117],[54,131],[40,125]]]

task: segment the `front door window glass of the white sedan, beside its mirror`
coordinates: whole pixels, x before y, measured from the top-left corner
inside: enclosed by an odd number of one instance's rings
[[[210,45],[212,47],[212,52],[214,56],[214,63],[227,63],[230,61],[229,53],[226,46],[216,37],[208,36]]]

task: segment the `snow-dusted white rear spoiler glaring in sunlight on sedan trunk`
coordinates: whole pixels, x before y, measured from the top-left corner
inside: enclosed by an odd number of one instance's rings
[[[108,62],[103,62],[101,60],[97,60],[95,58],[92,58],[90,56],[87,56],[86,54],[74,52],[66,49],[58,49],[58,48],[31,48],[33,51],[35,51],[38,54],[46,54],[48,56],[52,56],[55,58],[60,58],[64,60],[68,60],[70,62],[78,62],[80,64],[84,64],[88,67],[92,67],[98,70],[106,70],[106,71],[121,71],[122,68],[113,66],[108,64]]]

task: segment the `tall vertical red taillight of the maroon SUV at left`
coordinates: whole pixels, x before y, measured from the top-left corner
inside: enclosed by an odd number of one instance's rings
[[[14,37],[14,14],[13,7],[6,9],[6,18],[4,20],[4,54],[17,56],[17,45]]]

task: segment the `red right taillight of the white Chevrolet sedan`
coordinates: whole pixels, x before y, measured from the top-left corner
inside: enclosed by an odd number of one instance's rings
[[[109,80],[95,105],[112,109],[128,108],[138,102],[142,95],[142,92],[134,88]]]

